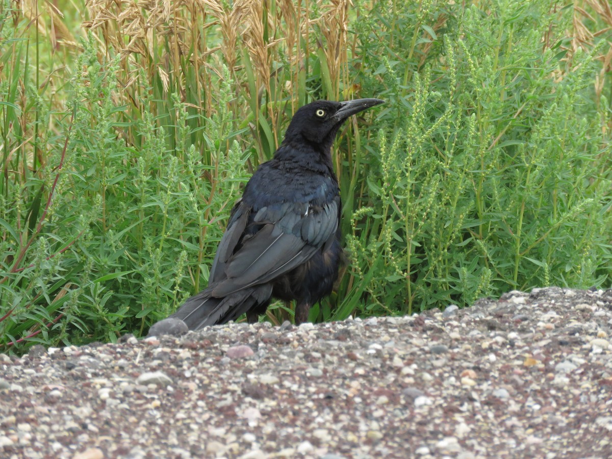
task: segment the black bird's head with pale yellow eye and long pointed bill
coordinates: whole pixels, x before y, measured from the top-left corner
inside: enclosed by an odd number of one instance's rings
[[[299,108],[285,133],[285,143],[303,138],[311,144],[320,144],[324,150],[332,146],[338,129],[349,118],[375,105],[381,99],[356,99],[346,102],[317,100]]]

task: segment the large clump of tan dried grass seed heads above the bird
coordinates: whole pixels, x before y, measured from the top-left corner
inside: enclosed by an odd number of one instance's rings
[[[256,100],[253,126],[260,116],[258,107],[266,103],[264,113],[277,142],[282,108],[269,102],[289,99],[296,109],[298,75],[304,71],[305,56],[313,53],[309,41],[315,36],[313,28],[323,34],[325,43],[318,45],[325,51],[335,82],[334,94],[329,97],[339,97],[338,81],[346,80],[351,1],[319,0],[317,6],[313,10],[308,1],[291,0],[88,0],[89,20],[83,25],[94,33],[107,56],[121,56],[124,75],[119,75],[119,80],[136,94],[140,91],[137,75],[144,71],[150,79],[162,81],[166,95],[177,92],[184,102],[199,103],[211,114],[216,110],[218,83],[226,66],[236,95],[247,91],[246,99]],[[316,11],[321,15],[313,17]],[[244,62],[245,58],[249,62]],[[247,64],[253,69],[255,88],[248,86],[247,75],[241,71]],[[195,75],[196,81],[185,81],[188,67],[195,69],[192,77]],[[204,100],[186,98],[188,84],[195,86]],[[133,95],[131,99],[138,98]]]

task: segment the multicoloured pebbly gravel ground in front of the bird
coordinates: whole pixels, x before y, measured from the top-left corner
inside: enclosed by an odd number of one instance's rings
[[[0,354],[3,458],[612,457],[612,290]]]

